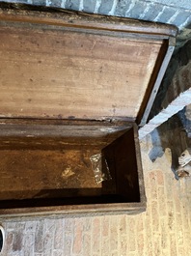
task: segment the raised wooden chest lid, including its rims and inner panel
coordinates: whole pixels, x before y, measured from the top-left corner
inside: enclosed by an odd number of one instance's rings
[[[171,25],[4,6],[0,117],[143,125],[176,34]]]

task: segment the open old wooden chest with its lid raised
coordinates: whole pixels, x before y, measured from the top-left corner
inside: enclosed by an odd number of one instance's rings
[[[137,125],[177,29],[52,11],[0,10],[0,214],[145,211]]]

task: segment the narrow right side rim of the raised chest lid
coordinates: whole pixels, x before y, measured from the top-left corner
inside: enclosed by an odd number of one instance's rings
[[[157,95],[165,71],[169,65],[170,59],[175,49],[175,45],[176,40],[172,37],[169,40],[164,40],[164,43],[161,45],[156,65],[150,76],[147,92],[136,119],[136,123],[139,125],[139,127],[143,127],[148,121],[151,106]]]

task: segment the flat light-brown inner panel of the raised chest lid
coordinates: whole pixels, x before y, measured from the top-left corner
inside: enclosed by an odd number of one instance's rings
[[[0,34],[0,117],[135,119],[162,43],[30,23]]]

